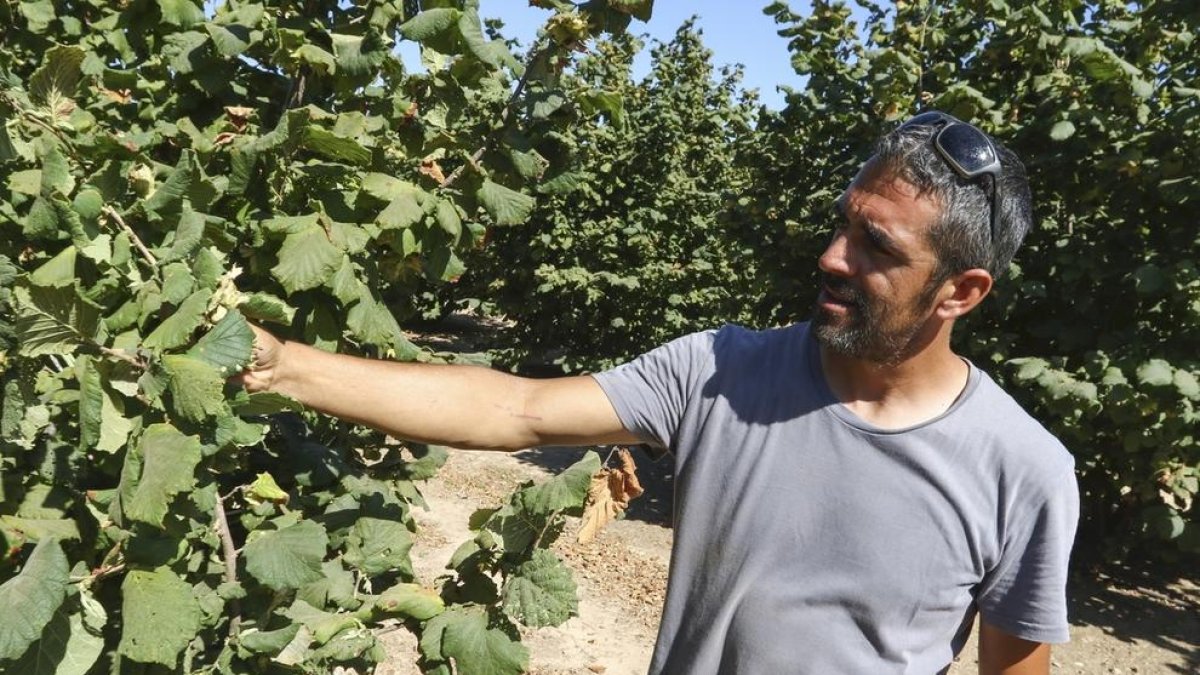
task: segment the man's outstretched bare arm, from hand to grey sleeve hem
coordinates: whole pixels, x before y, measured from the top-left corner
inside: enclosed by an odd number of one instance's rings
[[[331,354],[254,327],[256,360],[238,376],[316,411],[397,438],[458,448],[637,443],[588,376],[530,380],[486,368]]]

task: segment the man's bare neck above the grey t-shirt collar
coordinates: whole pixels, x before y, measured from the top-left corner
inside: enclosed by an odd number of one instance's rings
[[[962,393],[970,368],[950,350],[950,325],[898,363],[875,363],[821,345],[821,368],[839,401],[876,426],[900,429],[946,412]]]

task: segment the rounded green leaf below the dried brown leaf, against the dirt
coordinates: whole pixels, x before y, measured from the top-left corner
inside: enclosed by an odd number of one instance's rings
[[[504,585],[504,611],[532,628],[560,626],[578,614],[580,599],[569,567],[538,549]]]

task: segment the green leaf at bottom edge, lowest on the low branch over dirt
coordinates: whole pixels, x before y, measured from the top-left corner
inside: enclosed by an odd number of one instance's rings
[[[437,661],[454,659],[456,669],[470,675],[518,675],[529,668],[529,651],[499,628],[490,628],[478,608],[449,609],[426,623],[421,652]]]

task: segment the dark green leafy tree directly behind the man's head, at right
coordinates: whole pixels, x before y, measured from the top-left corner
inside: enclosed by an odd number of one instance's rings
[[[1038,223],[961,348],[1074,452],[1085,544],[1200,550],[1200,8],[860,5],[865,25],[840,2],[767,8],[809,80],[746,160],[743,232],[772,276],[760,316],[808,311],[828,205],[881,131],[924,107],[976,121],[1026,160]]]

